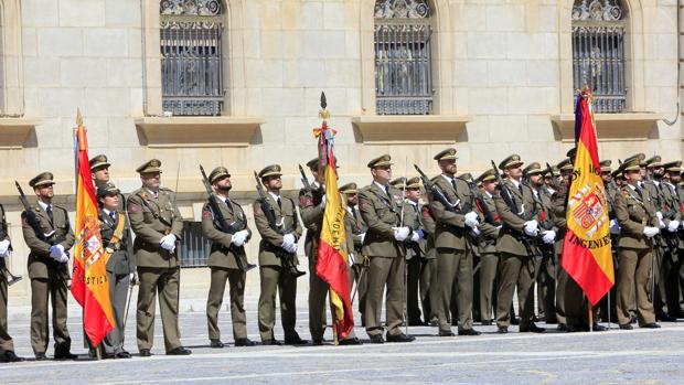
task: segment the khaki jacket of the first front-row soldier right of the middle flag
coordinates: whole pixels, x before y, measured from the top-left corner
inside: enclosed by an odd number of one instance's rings
[[[367,257],[404,257],[404,245],[394,239],[394,229],[400,224],[402,191],[389,186],[389,196],[376,183],[359,191],[361,217],[368,226],[362,253]]]

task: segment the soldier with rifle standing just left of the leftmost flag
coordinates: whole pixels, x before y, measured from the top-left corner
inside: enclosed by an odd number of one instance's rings
[[[66,210],[52,203],[54,181],[50,172],[40,173],[29,185],[38,196],[31,210],[35,223],[29,223],[22,213],[22,233],[29,254],[31,278],[31,346],[36,361],[45,360],[47,350],[47,302],[52,303],[54,359],[74,360],[72,339],[66,329],[66,300],[68,275],[68,249],[74,245],[74,233]],[[40,234],[38,233],[40,231]],[[45,238],[45,234],[53,234]]]

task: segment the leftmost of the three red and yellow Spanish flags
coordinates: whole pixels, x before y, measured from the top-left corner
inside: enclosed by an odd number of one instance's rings
[[[109,300],[109,281],[99,232],[95,186],[88,162],[88,141],[81,114],[76,119],[76,244],[72,295],[83,307],[83,324],[93,345],[97,346],[113,329],[115,321]]]

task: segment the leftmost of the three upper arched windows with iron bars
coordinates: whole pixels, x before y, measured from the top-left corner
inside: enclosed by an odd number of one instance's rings
[[[173,115],[223,110],[221,0],[161,1],[162,107]]]

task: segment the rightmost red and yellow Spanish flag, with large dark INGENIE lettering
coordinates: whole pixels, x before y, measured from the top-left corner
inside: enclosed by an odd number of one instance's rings
[[[577,154],[568,192],[567,233],[563,243],[563,268],[596,304],[614,284],[608,203],[601,180],[596,130],[588,87],[578,94]]]

